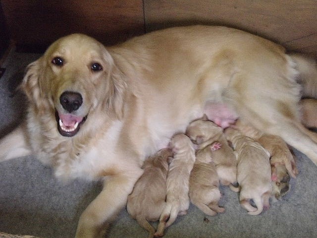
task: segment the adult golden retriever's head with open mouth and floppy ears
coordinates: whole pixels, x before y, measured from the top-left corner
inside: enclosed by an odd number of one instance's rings
[[[38,113],[50,111],[63,136],[74,136],[97,108],[120,119],[125,86],[106,48],[82,34],[54,42],[29,64],[22,82],[31,106]]]

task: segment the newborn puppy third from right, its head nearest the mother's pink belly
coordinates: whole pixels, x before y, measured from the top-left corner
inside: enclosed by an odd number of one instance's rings
[[[196,142],[198,149],[205,148],[215,141],[219,142],[221,149],[212,151],[211,157],[220,183],[225,186],[236,183],[237,160],[221,127],[204,117],[191,122],[186,129],[186,134]],[[232,186],[230,188],[232,189]]]

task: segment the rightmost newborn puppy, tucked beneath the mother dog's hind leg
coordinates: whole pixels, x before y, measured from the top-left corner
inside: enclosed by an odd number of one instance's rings
[[[235,128],[258,141],[270,153],[272,195],[280,199],[290,189],[290,176],[296,178],[298,175],[296,162],[289,147],[281,137],[264,134],[241,120],[236,122]]]

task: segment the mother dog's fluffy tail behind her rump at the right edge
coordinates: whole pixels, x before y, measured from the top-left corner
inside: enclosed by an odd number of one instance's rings
[[[317,63],[316,60],[303,54],[291,54],[299,72],[298,83],[302,85],[303,98],[317,99]]]

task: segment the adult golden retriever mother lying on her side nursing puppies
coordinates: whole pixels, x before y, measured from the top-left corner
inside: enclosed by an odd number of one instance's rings
[[[27,67],[26,123],[1,139],[0,160],[34,154],[58,178],[103,179],[76,232],[97,238],[126,205],[145,158],[204,114],[223,126],[239,117],[316,164],[317,136],[298,106],[317,96],[308,72],[316,67],[302,56],[228,27],[169,28],[108,48],[72,34]]]

